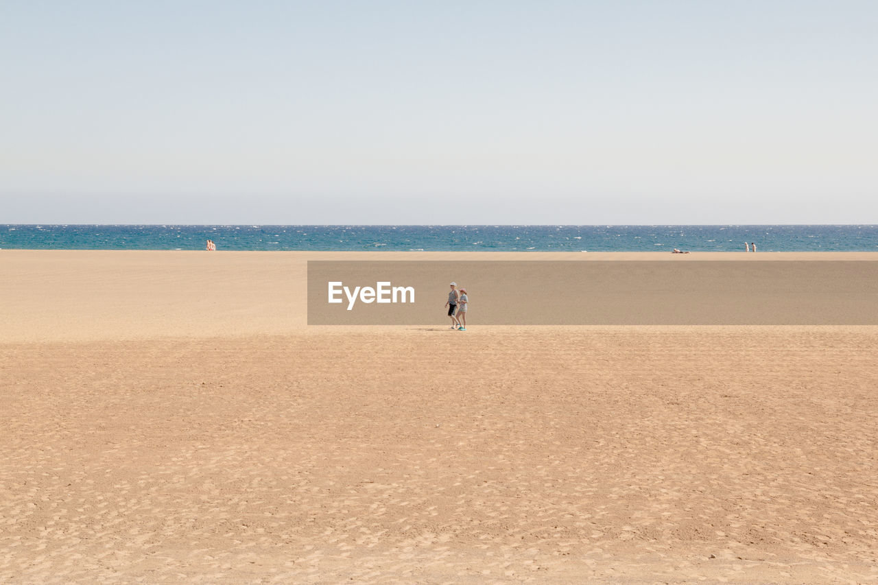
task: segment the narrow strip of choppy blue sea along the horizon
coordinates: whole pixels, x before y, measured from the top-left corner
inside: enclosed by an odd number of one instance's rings
[[[2,225],[0,249],[878,252],[878,226]]]

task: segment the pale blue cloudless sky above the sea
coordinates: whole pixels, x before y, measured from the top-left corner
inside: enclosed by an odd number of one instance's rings
[[[878,223],[878,2],[0,4],[0,223]]]

